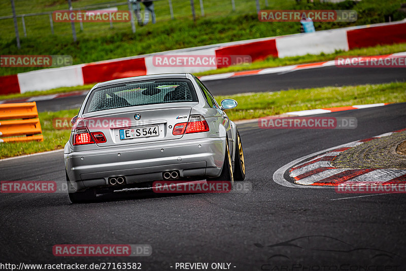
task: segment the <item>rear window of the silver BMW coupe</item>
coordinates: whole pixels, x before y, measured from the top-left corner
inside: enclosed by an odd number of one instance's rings
[[[86,103],[85,113],[183,101],[197,101],[190,80],[165,79],[125,83],[95,89]]]

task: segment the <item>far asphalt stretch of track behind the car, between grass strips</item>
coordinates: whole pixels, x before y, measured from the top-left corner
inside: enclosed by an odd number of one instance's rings
[[[406,81],[404,68],[343,68],[335,66],[278,74],[234,77],[205,81],[213,95],[245,92],[279,91],[323,86],[381,84]],[[38,110],[58,111],[79,108],[85,96],[68,96],[37,101]]]

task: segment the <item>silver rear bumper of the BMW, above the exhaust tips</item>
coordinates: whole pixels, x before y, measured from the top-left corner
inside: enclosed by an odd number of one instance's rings
[[[65,153],[65,168],[76,190],[108,186],[108,179],[117,176],[124,176],[127,184],[162,180],[166,171],[178,171],[180,178],[219,176],[225,140],[171,140]]]

